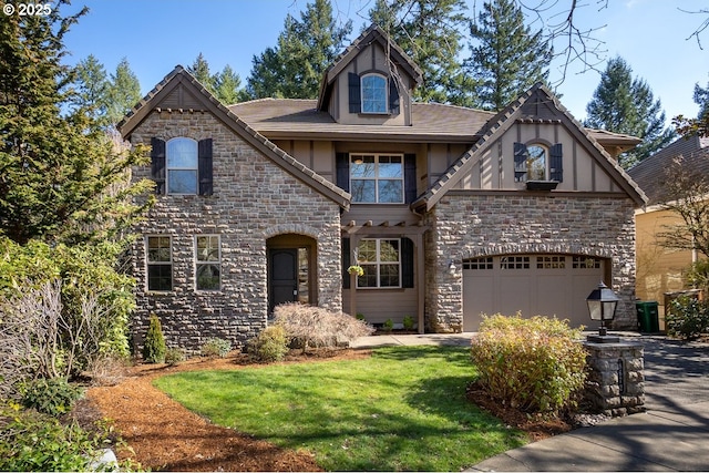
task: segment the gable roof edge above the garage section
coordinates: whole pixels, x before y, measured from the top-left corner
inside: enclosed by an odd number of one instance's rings
[[[618,186],[625,191],[639,206],[647,202],[643,189],[628,174],[610,157],[610,155],[590,135],[589,131],[578,123],[572,114],[558,102],[556,96],[541,82],[533,85],[504,110],[492,117],[481,138],[448,168],[433,185],[412,204],[412,207],[425,205],[431,209],[448,191],[453,188],[477,163],[487,144],[500,138],[517,121],[530,123],[559,120],[578,143],[585,143],[592,155],[596,156],[600,167],[614,177]]]

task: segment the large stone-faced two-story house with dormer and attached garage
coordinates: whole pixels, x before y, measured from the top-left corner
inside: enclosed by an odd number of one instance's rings
[[[421,81],[372,27],[318,100],[225,107],[181,66],[157,84],[120,124],[152,144],[134,175],[158,194],[134,247],[136,343],[151,312],[168,343],[242,343],[294,300],[419,331],[517,310],[588,325],[600,280],[636,327],[645,196],[608,153],[638,140],[585,130],[541,84],[493,114],[412,102]]]

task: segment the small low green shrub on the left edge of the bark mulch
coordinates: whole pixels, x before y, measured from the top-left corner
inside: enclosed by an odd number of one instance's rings
[[[71,411],[83,390],[64,378],[38,379],[23,384],[22,405],[58,417]]]

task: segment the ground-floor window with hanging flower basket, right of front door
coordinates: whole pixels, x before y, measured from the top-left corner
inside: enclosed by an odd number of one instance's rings
[[[364,275],[358,276],[357,287],[401,287],[401,240],[362,239],[357,258]]]

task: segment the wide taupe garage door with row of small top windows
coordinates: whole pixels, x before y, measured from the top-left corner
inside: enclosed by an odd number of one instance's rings
[[[556,316],[573,327],[592,322],[586,298],[604,279],[605,261],[573,255],[505,255],[463,261],[463,330],[482,315]]]

